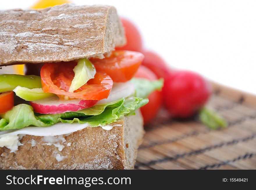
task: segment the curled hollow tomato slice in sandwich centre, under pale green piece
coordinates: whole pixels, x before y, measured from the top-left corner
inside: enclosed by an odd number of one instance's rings
[[[85,85],[68,92],[74,78],[74,67],[77,62],[45,63],[41,69],[42,89],[44,92],[54,93],[61,100],[82,99],[102,100],[109,96],[113,86],[113,80],[104,72],[97,72],[93,79]]]

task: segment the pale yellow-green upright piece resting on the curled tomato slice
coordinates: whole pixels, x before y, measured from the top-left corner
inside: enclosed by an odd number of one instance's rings
[[[87,83],[88,80],[94,78],[96,74],[94,65],[86,58],[79,59],[77,66],[74,67],[73,71],[75,76],[71,82],[68,92],[74,92],[79,89]]]

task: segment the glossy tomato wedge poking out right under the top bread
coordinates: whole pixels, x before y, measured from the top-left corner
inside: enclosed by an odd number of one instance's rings
[[[108,74],[114,82],[130,80],[138,70],[144,55],[136,51],[113,51],[104,59],[91,58],[97,71]]]

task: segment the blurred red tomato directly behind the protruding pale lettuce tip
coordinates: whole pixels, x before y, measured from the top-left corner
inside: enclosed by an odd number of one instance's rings
[[[157,80],[157,76],[147,67],[141,65],[134,77]],[[144,124],[149,123],[158,113],[162,105],[162,92],[154,91],[148,96],[149,102],[141,107]]]

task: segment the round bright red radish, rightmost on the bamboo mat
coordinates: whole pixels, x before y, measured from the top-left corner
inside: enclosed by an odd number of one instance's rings
[[[175,118],[189,118],[198,112],[211,94],[209,83],[190,71],[178,71],[166,78],[163,100],[166,109]]]

